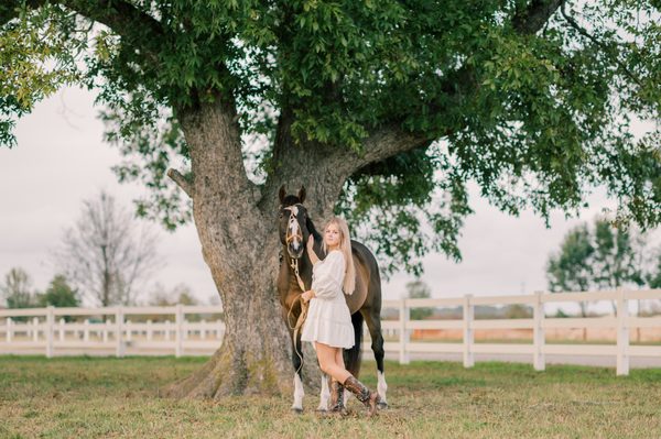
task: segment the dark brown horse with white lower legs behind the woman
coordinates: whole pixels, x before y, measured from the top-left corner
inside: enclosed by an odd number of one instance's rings
[[[297,333],[294,342],[294,326],[301,314],[300,296],[303,293],[299,278],[305,289],[312,285],[312,262],[307,255],[305,243],[310,235],[314,237],[314,251],[319,259],[326,255],[322,250],[322,235],[316,231],[314,223],[307,216],[303,206],[305,201],[305,188],[301,188],[297,195],[286,195],[284,186],[280,188],[280,242],[282,254],[280,273],[278,275],[278,293],[282,305],[282,315],[290,329],[294,366],[294,403],[292,409],[300,413],[303,410],[303,382],[301,380],[301,365],[303,353],[301,350],[301,334]],[[362,340],[362,322],[367,323],[371,337],[371,349],[375,353],[378,369],[378,387],[380,396],[379,408],[388,406],[386,402],[386,375],[383,374],[383,336],[381,334],[381,277],[379,266],[373,254],[361,243],[351,241],[351,252],[356,266],[356,289],[353,295],[346,296],[347,305],[351,312],[354,325],[354,348],[345,350],[344,360],[347,370],[358,376],[360,371],[360,348]],[[296,272],[299,272],[296,274]],[[328,408],[328,377],[322,376],[322,393],[319,395],[318,410]],[[348,392],[345,392],[345,399]]]

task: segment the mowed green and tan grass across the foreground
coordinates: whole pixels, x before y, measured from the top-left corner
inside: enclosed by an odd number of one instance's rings
[[[386,364],[391,407],[367,418],[303,415],[291,396],[160,397],[201,358],[0,356],[1,438],[659,438],[661,370],[477,363]],[[362,378],[376,385],[375,363]]]

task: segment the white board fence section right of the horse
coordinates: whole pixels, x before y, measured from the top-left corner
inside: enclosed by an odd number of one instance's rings
[[[399,350],[400,363],[409,363],[411,352],[462,353],[464,366],[475,364],[475,353],[529,354],[535,370],[545,369],[545,354],[566,355],[611,355],[617,359],[617,374],[629,374],[630,356],[658,356],[660,345],[630,345],[631,328],[661,328],[661,317],[633,317],[629,315],[631,300],[661,299],[661,289],[611,290],[590,293],[535,293],[533,295],[472,297],[448,299],[401,299],[387,300],[383,307],[399,308],[398,321],[383,321],[384,330],[395,329],[402,337],[399,342],[386,343],[387,351]],[[544,305],[551,303],[581,303],[611,300],[617,304],[616,317],[550,318],[544,314]],[[532,307],[531,319],[475,319],[477,305],[527,305]],[[410,320],[411,308],[457,307],[463,309],[463,318],[455,320]],[[611,328],[616,330],[615,344],[561,344],[546,343],[544,331],[552,328]],[[462,343],[411,342],[410,334],[415,329],[460,329]],[[531,344],[475,343],[476,329],[532,329]]]

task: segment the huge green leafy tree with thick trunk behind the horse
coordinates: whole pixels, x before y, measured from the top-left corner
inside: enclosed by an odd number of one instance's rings
[[[175,394],[289,392],[282,184],[305,185],[317,222],[345,212],[389,271],[459,256],[469,180],[542,217],[604,185],[622,220],[659,222],[659,136],[629,131],[630,114],[659,117],[658,7],[3,1],[0,139],[62,85],[98,90],[120,179],[153,189],[139,211],[170,228],[192,213],[223,299],[223,347]]]

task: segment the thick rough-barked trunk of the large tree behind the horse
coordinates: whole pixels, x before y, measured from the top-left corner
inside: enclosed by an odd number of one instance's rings
[[[332,213],[346,177],[319,171],[328,164],[318,154],[290,149],[288,165],[264,185],[262,198],[262,191],[246,177],[231,106],[207,105],[182,111],[178,119],[191,149],[193,178],[181,182],[178,175],[177,183],[193,198],[193,217],[204,260],[220,294],[226,331],[213,358],[167,393],[208,398],[291,394],[291,341],[275,288],[280,241],[273,188],[281,182],[292,188],[305,183],[315,194],[311,211],[321,221]],[[312,350],[304,364],[306,384],[318,386]]]

